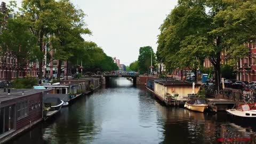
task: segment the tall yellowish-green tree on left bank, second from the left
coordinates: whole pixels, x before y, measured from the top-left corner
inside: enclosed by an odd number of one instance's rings
[[[23,0],[20,8],[22,19],[28,23],[29,30],[37,38],[36,59],[39,64],[39,77],[42,77],[43,58],[45,55],[46,45],[49,44],[50,36],[57,29],[55,20],[59,15],[57,2],[54,0]]]

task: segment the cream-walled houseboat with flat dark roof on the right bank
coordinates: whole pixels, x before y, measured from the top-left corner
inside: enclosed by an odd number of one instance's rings
[[[173,79],[147,79],[147,89],[166,105],[184,106],[188,95],[197,93],[200,84]]]

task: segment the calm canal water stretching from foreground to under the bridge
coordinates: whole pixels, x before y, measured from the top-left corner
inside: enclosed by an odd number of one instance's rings
[[[9,143],[255,143],[255,132],[255,122],[165,107],[145,86],[113,78]]]

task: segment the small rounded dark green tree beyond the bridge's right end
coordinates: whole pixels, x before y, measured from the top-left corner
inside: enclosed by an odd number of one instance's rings
[[[152,54],[152,62],[153,66],[156,63],[155,53],[151,46],[140,47],[140,54],[138,58],[139,71],[145,73],[148,71],[151,66],[151,54]]]

